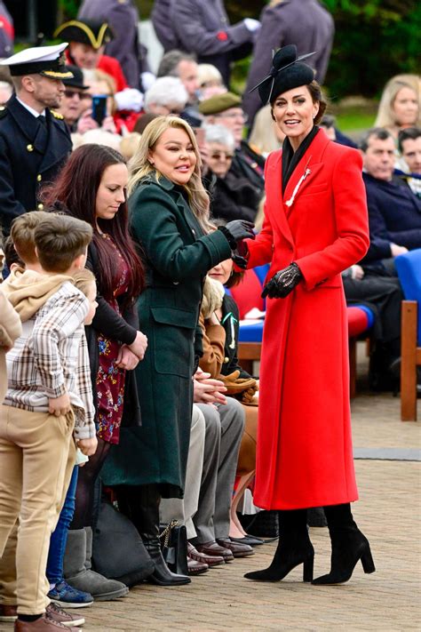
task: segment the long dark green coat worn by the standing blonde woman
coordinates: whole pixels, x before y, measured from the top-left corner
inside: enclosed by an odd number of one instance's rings
[[[170,180],[143,180],[129,207],[147,265],[139,325],[148,347],[136,369],[142,427],[122,428],[101,477],[106,484],[158,483],[163,497],[182,497],[203,278],[231,249],[219,230],[203,234],[182,189]]]

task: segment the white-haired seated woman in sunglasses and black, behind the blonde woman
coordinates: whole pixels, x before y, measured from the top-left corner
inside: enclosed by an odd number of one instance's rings
[[[234,175],[234,136],[223,125],[204,128],[207,172],[205,186],[211,192],[211,215],[215,219],[253,221],[260,194],[246,178]]]

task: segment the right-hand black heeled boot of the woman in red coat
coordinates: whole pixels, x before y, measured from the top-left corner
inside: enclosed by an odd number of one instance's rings
[[[360,560],[364,572],[375,572],[369,540],[354,523],[350,504],[325,507],[324,513],[332,545],[330,572],[316,578],[313,584],[343,584],[351,579],[353,569]]]

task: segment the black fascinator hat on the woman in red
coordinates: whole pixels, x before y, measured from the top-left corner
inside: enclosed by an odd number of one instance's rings
[[[314,55],[314,52],[307,52],[306,55],[297,57],[295,44],[280,48],[274,53],[269,75],[251,88],[250,92],[258,90],[260,100],[263,105],[266,105],[266,103],[273,103],[282,92],[298,88],[299,85],[311,84],[314,80],[314,70],[302,63],[302,60],[306,60],[311,55]]]

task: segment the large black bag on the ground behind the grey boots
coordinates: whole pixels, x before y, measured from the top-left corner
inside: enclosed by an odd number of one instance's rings
[[[95,571],[129,588],[146,580],[155,569],[134,524],[109,502],[102,502],[99,508],[92,563]]]

